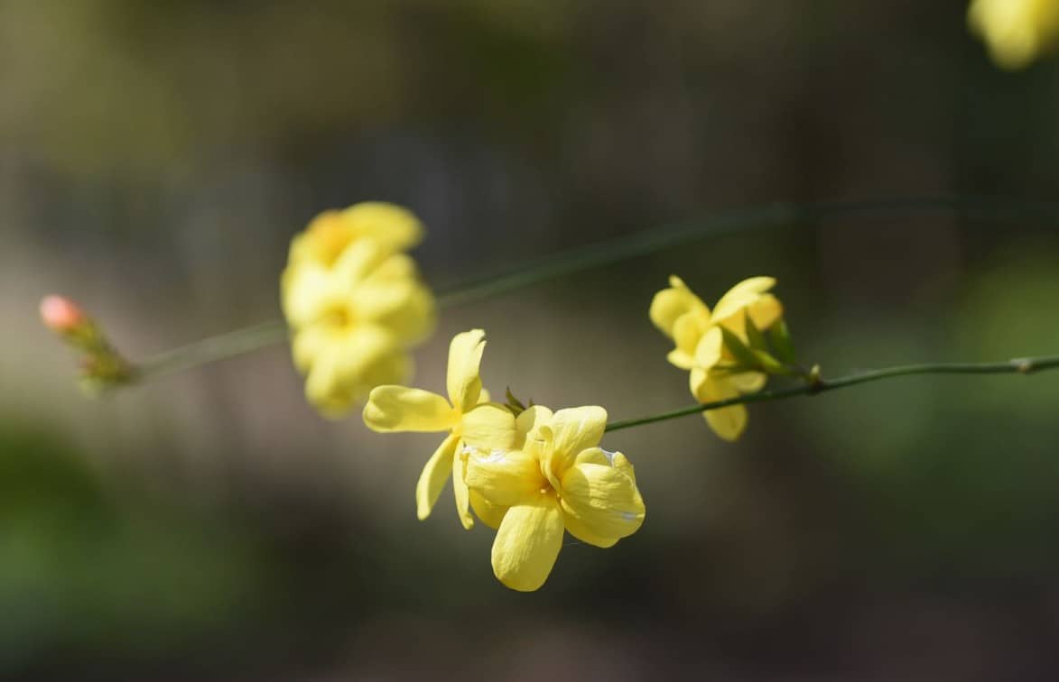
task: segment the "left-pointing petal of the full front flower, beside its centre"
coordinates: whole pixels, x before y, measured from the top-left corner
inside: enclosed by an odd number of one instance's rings
[[[523,450],[490,451],[470,447],[468,455],[467,486],[492,504],[519,504],[548,489],[537,458]]]

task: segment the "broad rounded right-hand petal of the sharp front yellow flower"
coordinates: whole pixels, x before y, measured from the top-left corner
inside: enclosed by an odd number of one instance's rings
[[[644,500],[635,481],[610,464],[570,467],[562,475],[561,503],[566,516],[577,520],[577,530],[592,538],[627,537],[644,522]]]

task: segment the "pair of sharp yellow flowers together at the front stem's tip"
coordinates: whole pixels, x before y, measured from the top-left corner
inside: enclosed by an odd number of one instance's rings
[[[456,512],[471,528],[470,510],[497,531],[492,570],[507,587],[540,588],[552,572],[564,533],[612,547],[644,522],[644,500],[632,465],[599,447],[607,426],[602,407],[553,412],[489,402],[480,365],[485,333],[457,334],[449,347],[449,398],[403,386],[379,386],[364,407],[376,431],[445,431],[416,485],[426,518],[447,478]]]

